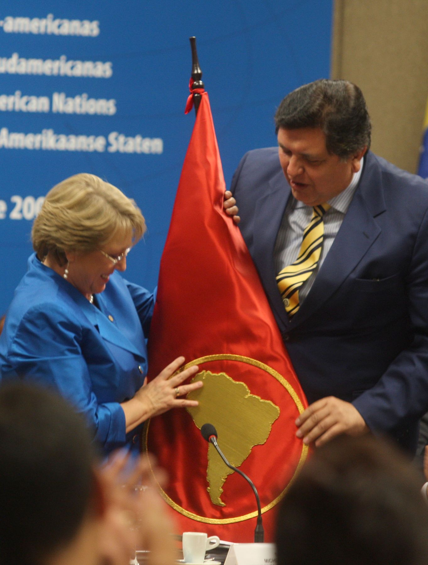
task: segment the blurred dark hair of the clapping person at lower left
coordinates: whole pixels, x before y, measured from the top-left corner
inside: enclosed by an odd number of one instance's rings
[[[87,427],[59,396],[0,387],[0,563],[39,564],[81,525],[93,489]]]

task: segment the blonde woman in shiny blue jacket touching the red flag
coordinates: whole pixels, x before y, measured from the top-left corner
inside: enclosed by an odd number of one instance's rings
[[[139,449],[146,419],[173,407],[202,383],[181,385],[179,357],[144,385],[155,296],[115,271],[145,232],[135,202],[82,173],[47,194],[34,220],[28,271],[15,291],[0,337],[2,379],[56,389],[84,414],[106,453]]]

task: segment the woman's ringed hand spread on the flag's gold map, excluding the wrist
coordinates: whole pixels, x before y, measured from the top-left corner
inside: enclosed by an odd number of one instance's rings
[[[185,408],[187,406],[197,406],[196,400],[186,400],[178,398],[196,390],[202,386],[202,381],[188,385],[181,385],[185,380],[195,375],[199,368],[195,365],[185,371],[181,371],[175,376],[175,371],[184,363],[184,357],[176,358],[157,377],[150,383],[142,386],[135,393],[135,399],[143,405],[148,406],[149,416],[158,416],[170,408]],[[181,386],[180,386],[181,385]]]

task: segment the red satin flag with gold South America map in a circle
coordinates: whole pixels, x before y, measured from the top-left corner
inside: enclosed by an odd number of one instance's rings
[[[149,421],[145,446],[170,475],[162,494],[181,531],[250,542],[254,494],[201,437],[213,424],[223,453],[256,485],[272,541],[275,507],[306,458],[295,419],[307,403],[239,228],[223,211],[224,190],[203,92],[162,255],[149,378],[184,355],[204,386],[191,393],[197,408]]]

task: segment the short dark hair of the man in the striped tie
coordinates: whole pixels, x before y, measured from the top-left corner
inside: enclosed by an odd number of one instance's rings
[[[371,124],[361,90],[347,80],[315,80],[289,93],[275,114],[280,128],[321,128],[328,153],[341,159],[370,147]]]

